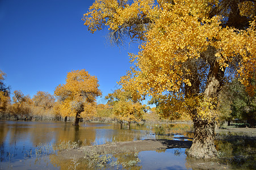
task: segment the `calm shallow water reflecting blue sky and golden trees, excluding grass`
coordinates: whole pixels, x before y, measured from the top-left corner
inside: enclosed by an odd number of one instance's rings
[[[131,129],[127,129],[120,124],[80,123],[77,127],[72,126],[71,122],[0,121],[0,169],[83,169],[83,162],[74,162],[74,159],[70,159],[69,162],[58,160],[57,152],[52,150],[52,145],[64,141],[75,142],[79,146],[144,139],[186,141],[192,138],[191,129],[190,124],[132,124]],[[227,167],[254,168],[255,163],[250,163],[255,159],[254,143],[255,141],[248,142],[246,139],[221,140],[216,141],[216,148],[229,158],[223,160],[224,164],[234,164]],[[184,152],[184,148],[142,151],[136,158],[139,162],[131,169],[191,169],[193,166]],[[121,160],[124,159],[122,156],[115,155],[113,158]],[[125,159],[129,162],[128,159],[134,158],[127,154]]]

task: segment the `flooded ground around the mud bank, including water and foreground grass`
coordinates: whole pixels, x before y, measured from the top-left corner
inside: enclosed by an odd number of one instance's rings
[[[117,142],[163,139],[191,141],[191,124],[120,124],[71,122],[0,121],[0,169],[255,169],[255,133],[250,138],[236,134],[217,136],[220,160],[194,162],[186,148],[155,151],[81,152],[82,158],[60,159],[60,150],[73,151],[83,146],[116,145]],[[99,154],[99,155],[97,155]]]

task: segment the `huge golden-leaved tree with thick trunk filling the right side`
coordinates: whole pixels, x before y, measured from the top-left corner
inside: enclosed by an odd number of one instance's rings
[[[254,93],[249,79],[256,63],[255,3],[97,0],[83,20],[91,32],[108,27],[112,42],[142,41],[140,52],[130,54],[135,65],[120,84],[142,98],[163,94],[176,112],[186,109],[194,122],[187,155],[212,158],[221,87],[237,76]]]

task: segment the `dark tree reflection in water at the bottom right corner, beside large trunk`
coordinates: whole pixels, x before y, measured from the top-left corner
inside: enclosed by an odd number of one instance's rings
[[[186,158],[186,165],[192,169],[255,169],[255,139],[227,135],[215,140],[217,159],[199,161]],[[198,166],[201,165],[201,166]],[[207,167],[208,166],[208,167]],[[212,167],[211,167],[212,166]],[[204,167],[204,168],[203,168]],[[205,168],[206,167],[206,168]]]

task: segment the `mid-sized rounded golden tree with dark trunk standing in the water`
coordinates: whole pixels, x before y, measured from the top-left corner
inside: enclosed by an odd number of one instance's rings
[[[95,100],[102,95],[98,79],[87,71],[75,70],[68,73],[66,83],[56,87],[54,95],[61,101],[61,116],[75,117],[74,125],[79,124],[81,117],[91,117],[96,113]]]

